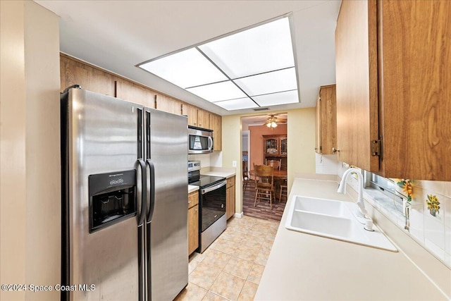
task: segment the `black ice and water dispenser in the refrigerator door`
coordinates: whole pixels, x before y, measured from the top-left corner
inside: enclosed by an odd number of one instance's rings
[[[136,171],[90,175],[89,233],[136,214]]]

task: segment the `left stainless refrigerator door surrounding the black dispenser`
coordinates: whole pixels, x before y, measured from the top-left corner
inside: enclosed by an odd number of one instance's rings
[[[89,233],[88,177],[135,168],[136,109],[140,106],[77,89],[69,90],[61,104],[62,135],[67,139],[63,144],[63,219],[67,223],[62,256],[68,264],[62,278],[77,288],[69,295],[63,293],[63,299],[137,300],[137,217],[132,214]],[[140,193],[139,186],[135,195]],[[83,284],[89,290],[80,289]]]

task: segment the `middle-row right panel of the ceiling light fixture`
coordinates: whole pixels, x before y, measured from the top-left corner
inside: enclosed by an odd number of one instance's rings
[[[296,70],[294,67],[252,75],[233,81],[251,97],[273,92],[297,90]]]

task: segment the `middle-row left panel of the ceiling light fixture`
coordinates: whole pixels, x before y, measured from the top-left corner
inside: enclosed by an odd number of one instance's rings
[[[209,102],[220,102],[222,100],[246,97],[246,94],[238,89],[230,80],[227,82],[193,87],[187,89],[187,91],[190,91]]]

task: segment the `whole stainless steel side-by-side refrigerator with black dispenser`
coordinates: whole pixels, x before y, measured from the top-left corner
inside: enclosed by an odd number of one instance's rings
[[[62,300],[173,300],[188,283],[187,118],[61,94]]]

